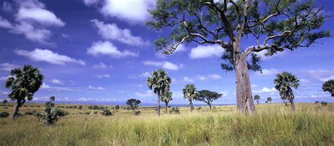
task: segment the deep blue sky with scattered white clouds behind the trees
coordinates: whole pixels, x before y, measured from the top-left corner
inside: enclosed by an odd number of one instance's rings
[[[334,2],[316,1],[328,15]],[[235,73],[221,69],[223,49],[209,44],[183,44],[172,55],[156,52],[153,42],[169,29],[156,31],[145,25],[153,0],[0,0],[0,99],[7,98],[4,82],[10,70],[30,64],[44,74],[42,88],[32,102],[51,95],[58,102],[125,104],[129,98],[156,104],[157,97],[146,80],[162,68],[172,79],[171,105],[187,104],[182,89],[195,84],[198,90],[222,93],[214,104],[235,104]],[[334,17],[321,29],[334,33]],[[255,45],[243,38],[242,48]],[[309,48],[263,56],[263,73],[249,72],[253,95],[282,102],[273,79],[292,72],[300,81],[295,102],[334,102],[322,91],[324,81],[334,79],[334,39],[319,39]],[[264,54],[261,52],[260,54]],[[200,102],[195,102],[199,104]]]

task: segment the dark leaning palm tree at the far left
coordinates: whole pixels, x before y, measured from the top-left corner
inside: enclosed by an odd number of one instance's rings
[[[22,68],[11,69],[11,76],[6,80],[6,88],[11,88],[8,98],[16,100],[13,119],[16,118],[19,108],[26,100],[32,100],[33,95],[42,86],[44,76],[38,68],[24,65]]]

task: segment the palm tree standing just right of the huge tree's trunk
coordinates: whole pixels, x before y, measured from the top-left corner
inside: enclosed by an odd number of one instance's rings
[[[290,72],[282,72],[281,74],[276,74],[276,79],[273,80],[273,83],[275,84],[276,90],[280,93],[280,98],[282,100],[288,100],[291,103],[292,111],[295,111],[295,105],[293,103],[295,95],[293,95],[292,88],[298,88],[298,78]]]

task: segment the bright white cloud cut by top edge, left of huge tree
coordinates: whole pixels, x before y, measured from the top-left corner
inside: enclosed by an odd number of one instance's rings
[[[109,17],[130,23],[144,23],[151,18],[147,9],[153,8],[154,0],[105,0],[100,12]]]

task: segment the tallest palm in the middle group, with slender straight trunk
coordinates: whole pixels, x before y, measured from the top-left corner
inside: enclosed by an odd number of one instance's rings
[[[169,89],[169,84],[171,84],[171,78],[163,69],[152,72],[152,77],[147,78],[149,89],[158,95],[158,116],[160,116],[161,95]]]

